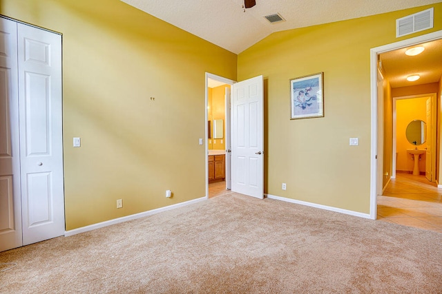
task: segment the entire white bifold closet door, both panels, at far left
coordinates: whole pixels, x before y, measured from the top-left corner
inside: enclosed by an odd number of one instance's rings
[[[0,18],[0,251],[64,235],[61,35]]]

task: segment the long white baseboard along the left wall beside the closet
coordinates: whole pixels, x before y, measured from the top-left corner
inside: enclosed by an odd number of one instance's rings
[[[158,209],[152,209],[152,210],[149,210],[149,211],[135,213],[135,214],[132,214],[131,216],[123,216],[122,218],[115,218],[113,220],[106,220],[106,222],[99,222],[97,224],[90,224],[89,226],[86,226],[86,227],[81,227],[81,228],[78,228],[78,229],[73,229],[73,230],[70,230],[70,231],[65,231],[64,232],[64,236],[65,237],[69,237],[71,235],[77,235],[79,233],[84,233],[84,232],[87,232],[87,231],[93,231],[95,229],[111,226],[112,224],[119,224],[120,222],[127,222],[128,220],[136,220],[137,218],[144,218],[145,216],[152,216],[153,214],[156,214],[156,213],[160,213],[160,212],[163,212],[163,211],[168,211],[168,210],[171,210],[171,209],[176,209],[178,207],[184,207],[186,205],[194,204],[196,202],[200,202],[200,201],[203,201],[203,200],[206,200],[206,199],[207,199],[206,197],[197,198],[197,199],[189,200],[189,201],[186,201],[186,202],[169,205],[169,206],[166,206],[166,207],[161,207],[161,208],[158,208]]]

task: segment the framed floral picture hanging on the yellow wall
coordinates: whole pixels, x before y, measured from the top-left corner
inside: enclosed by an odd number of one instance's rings
[[[324,116],[324,73],[290,80],[290,119]]]

